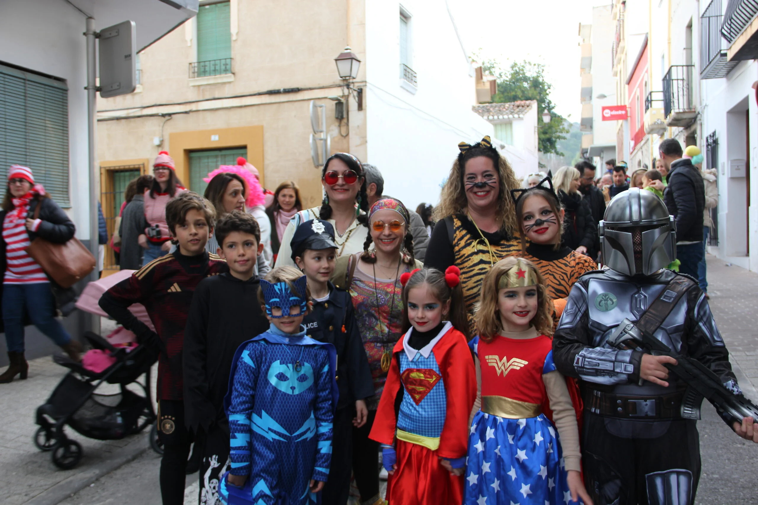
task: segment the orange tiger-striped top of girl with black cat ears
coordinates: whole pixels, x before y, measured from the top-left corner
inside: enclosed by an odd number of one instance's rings
[[[597,263],[589,256],[568,247],[555,251],[553,245],[530,244],[526,252],[516,251],[511,256],[520,256],[534,263],[545,279],[547,294],[553,300],[568,297],[579,277],[597,270]]]

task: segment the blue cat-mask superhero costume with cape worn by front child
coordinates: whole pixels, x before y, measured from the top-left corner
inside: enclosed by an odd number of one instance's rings
[[[305,276],[294,282],[305,294]],[[261,281],[266,312],[290,315],[305,296],[287,282]],[[281,316],[273,316],[279,307]],[[302,326],[301,326],[302,329]],[[243,488],[219,483],[229,505],[305,505],[319,503],[309,491],[311,479],[327,480],[331,459],[332,418],[337,406],[337,357],[334,346],[290,334],[273,324],[268,332],[244,342],[234,355],[224,398],[229,418],[232,475],[248,475]]]

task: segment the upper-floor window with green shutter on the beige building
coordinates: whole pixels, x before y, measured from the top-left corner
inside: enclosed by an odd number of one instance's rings
[[[197,62],[193,77],[231,73],[230,3],[201,5],[197,13]]]

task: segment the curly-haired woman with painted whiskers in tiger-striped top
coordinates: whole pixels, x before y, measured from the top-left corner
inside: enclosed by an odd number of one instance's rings
[[[503,257],[519,250],[518,224],[509,191],[521,187],[513,170],[484,137],[475,145],[461,142],[460,153],[434,209],[434,226],[424,264],[444,272],[461,270],[471,335],[474,304],[481,281]]]

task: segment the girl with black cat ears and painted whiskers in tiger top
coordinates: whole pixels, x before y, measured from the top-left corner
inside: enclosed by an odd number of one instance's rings
[[[511,191],[516,220],[521,227],[521,251],[512,253],[530,260],[545,278],[547,294],[553,298],[556,316],[565,307],[565,298],[580,276],[597,270],[589,256],[561,246],[564,210],[553,191],[553,182],[545,177],[530,189]],[[529,241],[529,245],[527,245]]]

